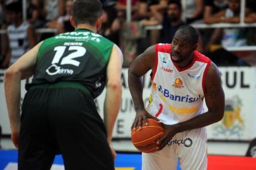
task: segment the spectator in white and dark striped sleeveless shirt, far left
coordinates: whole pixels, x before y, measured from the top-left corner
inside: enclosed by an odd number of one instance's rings
[[[6,6],[6,20],[11,23],[7,27],[8,51],[4,57],[2,67],[8,67],[18,58],[35,46],[35,35],[30,24],[22,19],[22,7],[18,2]]]

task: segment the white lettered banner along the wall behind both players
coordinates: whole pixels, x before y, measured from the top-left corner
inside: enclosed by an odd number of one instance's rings
[[[256,137],[256,68],[220,67],[219,71],[225,93],[225,113],[223,120],[207,127],[207,137],[210,140],[251,140]],[[147,105],[148,96],[151,92],[149,74],[150,72],[143,77],[145,105]],[[4,71],[0,70],[0,125],[4,134],[10,134],[4,98],[3,77]],[[119,139],[131,137],[131,125],[136,115],[127,80],[128,69],[123,69],[122,103],[113,131],[113,137]],[[24,85],[25,81],[21,84],[22,96],[26,93]],[[102,117],[104,99],[105,91],[95,99],[96,106]]]

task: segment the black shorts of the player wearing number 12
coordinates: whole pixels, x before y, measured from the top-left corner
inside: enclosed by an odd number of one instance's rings
[[[62,154],[67,170],[112,170],[102,118],[90,94],[76,88],[35,88],[21,113],[18,169],[50,169]]]

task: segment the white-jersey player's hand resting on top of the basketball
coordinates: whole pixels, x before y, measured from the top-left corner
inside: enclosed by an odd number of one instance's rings
[[[153,118],[154,120],[159,121],[158,118],[156,118],[156,117],[150,115],[150,114],[148,113],[148,111],[146,111],[146,110],[139,110],[139,111],[137,111],[137,113],[136,113],[136,117],[135,117],[135,119],[134,119],[134,122],[132,123],[131,130],[132,130],[132,129],[135,130],[136,128],[141,129],[141,127],[142,127],[143,124],[148,125],[148,120],[147,120],[147,118]]]

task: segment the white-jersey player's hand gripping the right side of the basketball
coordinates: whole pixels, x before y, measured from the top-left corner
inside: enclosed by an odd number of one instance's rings
[[[164,123],[161,124],[165,128],[165,135],[158,140],[160,145],[158,146],[157,150],[162,150],[177,133],[176,125],[165,125]]]

